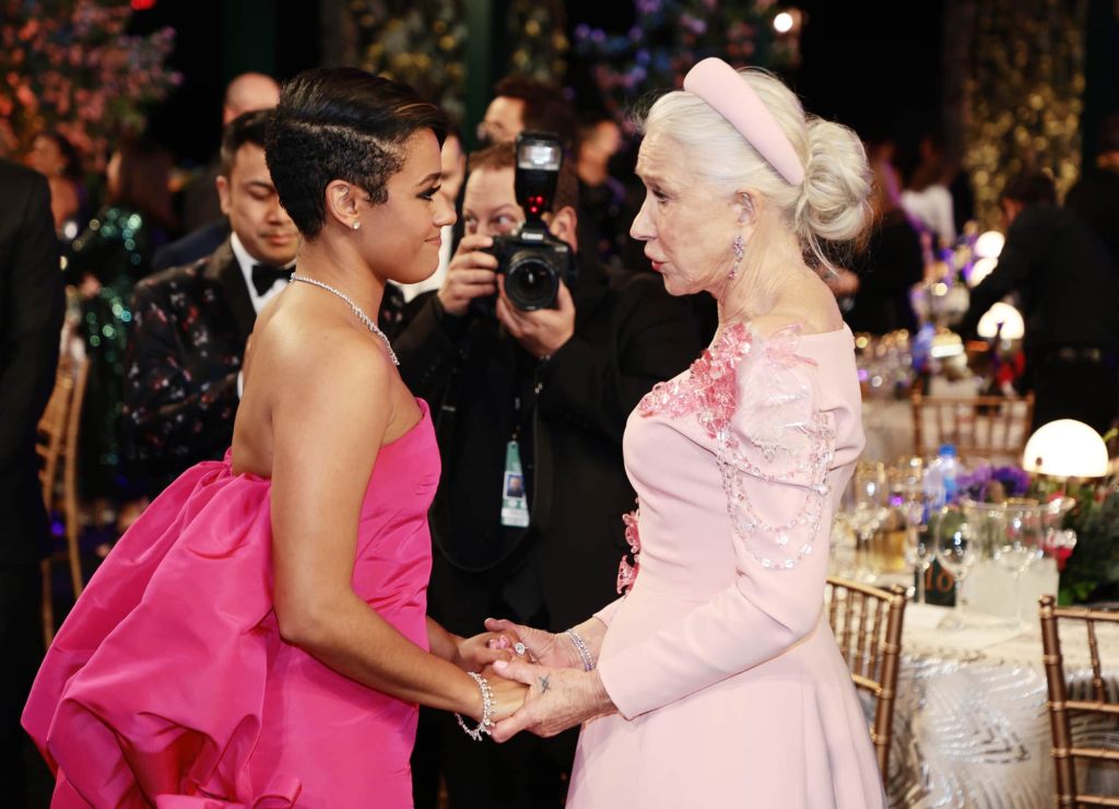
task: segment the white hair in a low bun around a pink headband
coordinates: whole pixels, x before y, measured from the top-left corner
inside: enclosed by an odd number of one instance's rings
[[[873,175],[863,143],[852,130],[806,115],[797,96],[773,75],[739,70],[805,167],[805,181],[786,181],[726,119],[699,96],[668,93],[649,110],[642,129],[678,143],[700,179],[726,194],[756,189],[781,213],[810,266],[831,264],[826,243],[852,242],[869,222]]]

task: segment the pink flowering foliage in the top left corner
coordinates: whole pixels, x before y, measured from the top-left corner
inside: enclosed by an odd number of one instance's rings
[[[43,129],[100,168],[115,139],[138,134],[145,110],[181,81],[164,59],[175,32],[126,32],[123,0],[0,0],[0,154]]]

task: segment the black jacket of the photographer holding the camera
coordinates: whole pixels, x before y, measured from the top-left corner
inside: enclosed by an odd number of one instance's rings
[[[584,258],[572,298],[575,333],[545,363],[492,319],[441,314],[433,293],[394,342],[404,380],[436,420],[443,474],[429,604],[452,631],[477,632],[498,599],[517,609],[518,578],[538,590],[553,629],[617,598],[621,518],[634,508],[626,421],[653,384],[695,359],[699,338],[687,303],[653,275],[606,275]],[[518,423],[527,529],[500,526],[506,444]]]

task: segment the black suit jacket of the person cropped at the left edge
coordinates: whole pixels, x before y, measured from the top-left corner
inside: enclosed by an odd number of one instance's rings
[[[34,563],[46,548],[35,432],[64,310],[47,180],[0,160],[0,565]]]

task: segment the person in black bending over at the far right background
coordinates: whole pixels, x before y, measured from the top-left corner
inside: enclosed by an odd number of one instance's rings
[[[961,323],[974,335],[990,307],[1014,293],[1026,321],[1023,350],[1035,394],[1034,429],[1075,418],[1101,433],[1119,411],[1119,273],[1100,237],[1056,206],[1053,179],[1013,177],[999,196],[1006,244],[971,290]]]

